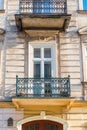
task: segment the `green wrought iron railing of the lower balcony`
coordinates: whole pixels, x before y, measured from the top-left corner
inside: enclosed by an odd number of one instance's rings
[[[17,97],[58,98],[70,97],[70,77],[66,78],[18,78]]]

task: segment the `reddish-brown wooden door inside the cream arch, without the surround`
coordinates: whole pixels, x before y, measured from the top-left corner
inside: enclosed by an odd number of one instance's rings
[[[63,125],[50,120],[37,120],[23,124],[22,130],[63,130]]]

